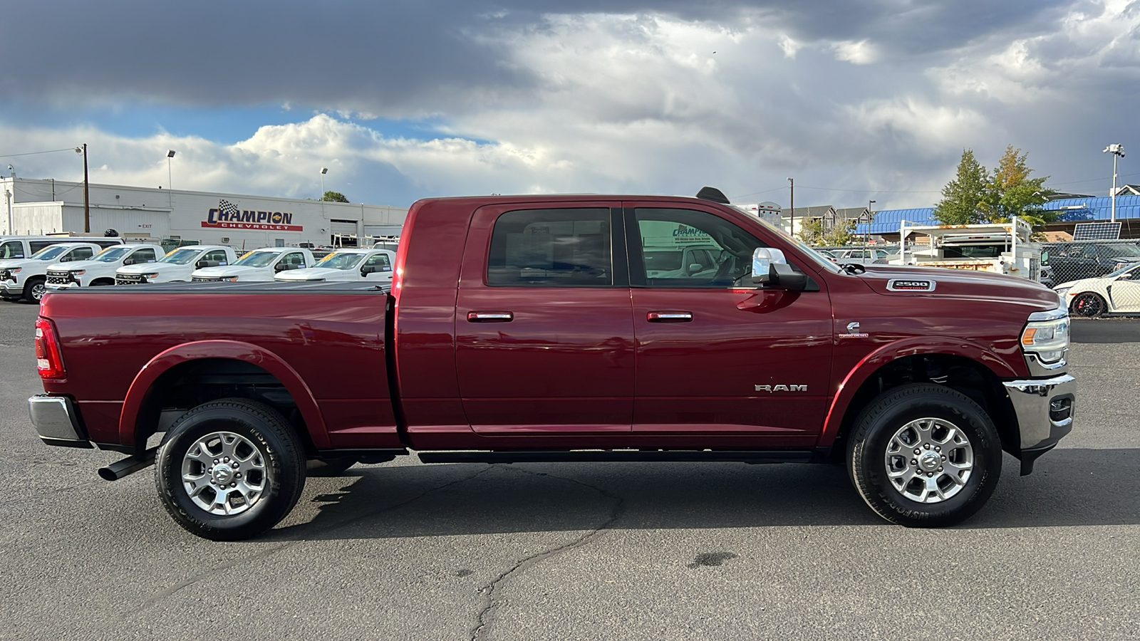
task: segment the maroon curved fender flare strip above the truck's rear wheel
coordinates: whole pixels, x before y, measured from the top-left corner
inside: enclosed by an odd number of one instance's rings
[[[234,360],[245,360],[269,372],[280,381],[290,396],[296,403],[296,408],[304,417],[306,427],[317,447],[332,447],[328,439],[328,431],[325,421],[320,415],[320,408],[312,397],[312,391],[304,383],[293,367],[285,363],[276,354],[255,344],[242,341],[213,340],[195,341],[174,346],[154,358],[152,358],[142,370],[135,375],[131,387],[127,391],[123,400],[123,411],[119,417],[120,443],[135,441],[135,425],[138,420],[139,409],[154,382],[164,372],[189,360],[202,358],[231,358]]]

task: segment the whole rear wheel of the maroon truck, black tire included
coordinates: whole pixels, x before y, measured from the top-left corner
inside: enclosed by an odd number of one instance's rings
[[[220,437],[210,440],[214,435],[229,435],[234,445]],[[233,471],[226,469],[227,447],[235,454]],[[198,461],[214,454],[212,463]],[[155,484],[163,506],[187,532],[213,541],[239,541],[274,527],[296,505],[304,489],[304,460],[300,439],[280,413],[254,400],[225,398],[198,405],[174,421],[158,446]],[[184,482],[184,471],[201,476],[194,485],[202,488],[195,492],[197,498],[190,496],[187,485],[194,481]],[[227,487],[230,480],[234,485]],[[254,496],[246,500],[243,489],[231,493],[238,482],[245,489],[252,484]],[[215,487],[225,488],[225,494]],[[219,497],[223,497],[220,503]],[[206,500],[209,506],[198,503]]]

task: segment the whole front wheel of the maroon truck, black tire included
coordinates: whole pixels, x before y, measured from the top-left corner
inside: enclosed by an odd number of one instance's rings
[[[855,420],[847,470],[866,504],[888,521],[943,527],[982,509],[1001,477],[1001,456],[997,429],[977,403],[915,383],[883,392]]]

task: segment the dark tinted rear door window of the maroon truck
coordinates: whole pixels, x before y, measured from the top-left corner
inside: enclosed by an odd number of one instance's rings
[[[609,209],[508,211],[491,232],[487,284],[604,286],[613,284]]]

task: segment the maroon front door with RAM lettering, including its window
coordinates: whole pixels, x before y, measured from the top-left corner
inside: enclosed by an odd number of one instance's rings
[[[752,250],[768,244],[715,208],[625,203],[625,222],[637,350],[634,432],[814,444],[831,378],[823,279],[814,278],[819,291],[758,289]],[[715,250],[716,268],[662,269],[661,255],[679,257],[690,244]]]

